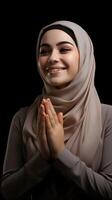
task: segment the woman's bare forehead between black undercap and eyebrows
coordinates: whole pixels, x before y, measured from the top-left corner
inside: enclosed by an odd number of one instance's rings
[[[42,43],[48,43],[48,44],[57,44],[61,41],[68,41],[72,44],[75,44],[74,40],[64,31],[58,30],[58,29],[52,29],[44,33],[44,35],[41,38]]]

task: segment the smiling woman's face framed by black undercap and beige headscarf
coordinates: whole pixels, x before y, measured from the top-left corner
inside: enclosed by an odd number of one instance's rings
[[[43,35],[37,59],[42,77],[56,88],[67,86],[79,69],[75,42],[62,30],[49,30]]]

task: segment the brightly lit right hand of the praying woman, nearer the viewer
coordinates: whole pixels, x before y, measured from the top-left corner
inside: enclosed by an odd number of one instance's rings
[[[63,114],[61,112],[56,114],[50,99],[44,99],[42,105],[44,106],[43,115],[46,124],[48,146],[52,158],[56,158],[65,148]]]

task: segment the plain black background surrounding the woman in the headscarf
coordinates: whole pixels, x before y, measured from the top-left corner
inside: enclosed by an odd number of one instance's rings
[[[102,103],[112,104],[112,31],[110,5],[94,2],[42,5],[5,4],[0,22],[0,172],[11,119],[41,92],[35,48],[39,30],[56,20],[71,20],[90,35],[95,51],[95,85]]]

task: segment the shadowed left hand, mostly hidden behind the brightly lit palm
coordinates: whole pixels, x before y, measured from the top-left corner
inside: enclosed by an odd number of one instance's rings
[[[40,105],[39,113],[38,113],[38,120],[37,120],[37,143],[38,149],[45,159],[50,158],[50,150],[47,143],[47,136],[46,136],[46,126],[45,126],[45,117],[43,113],[45,112],[43,104]]]

